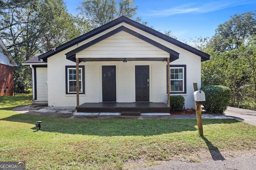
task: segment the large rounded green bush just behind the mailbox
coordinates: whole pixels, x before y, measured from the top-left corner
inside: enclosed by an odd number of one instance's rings
[[[227,109],[231,101],[231,90],[225,86],[203,86],[206,101],[203,102],[203,109],[211,113],[221,113]]]

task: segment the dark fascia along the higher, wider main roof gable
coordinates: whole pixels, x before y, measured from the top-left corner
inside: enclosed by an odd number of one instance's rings
[[[111,27],[114,27],[115,25],[118,25],[120,23],[127,23],[129,25],[132,25],[138,29],[141,29],[142,31],[145,31],[147,33],[150,33],[156,37],[159,37],[160,39],[163,39],[164,41],[167,41],[169,43],[172,43],[182,49],[185,49],[187,51],[190,51],[191,53],[194,53],[198,56],[201,57],[202,61],[205,61],[205,60],[208,60],[210,59],[210,55],[198,50],[198,49],[195,49],[194,47],[191,47],[187,44],[184,44],[172,37],[169,37],[167,35],[164,35],[163,33],[160,33],[150,27],[147,27],[146,25],[143,25],[141,23],[138,23],[134,20],[131,20],[129,18],[126,18],[124,16],[121,16],[119,18],[117,18],[116,20],[113,20],[113,21],[110,21],[109,23],[106,23],[105,25],[102,25],[96,29],[93,29],[92,31],[88,32],[88,33],[85,33],[84,35],[81,35],[80,37],[77,37],[71,41],[68,41],[67,43],[64,43],[62,45],[60,45],[59,47],[56,47],[56,49],[52,50],[52,51],[49,51],[47,53],[44,53],[42,55],[39,56],[39,59],[43,59],[44,61],[47,61],[47,58],[48,57],[51,57],[52,55],[56,54],[56,53],[59,53],[65,49],[68,49],[69,47],[72,47],[73,45],[76,45],[90,37],[93,37],[94,35],[97,35],[98,33],[100,32],[103,32]]]

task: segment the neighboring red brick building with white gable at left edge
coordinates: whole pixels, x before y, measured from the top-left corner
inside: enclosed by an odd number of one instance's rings
[[[0,39],[0,96],[12,96],[14,93],[14,66],[17,64]]]

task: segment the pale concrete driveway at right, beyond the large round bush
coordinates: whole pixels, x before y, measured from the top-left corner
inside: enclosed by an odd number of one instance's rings
[[[256,111],[248,109],[240,109],[236,107],[228,107],[225,111],[226,116],[234,117],[237,120],[256,125]]]

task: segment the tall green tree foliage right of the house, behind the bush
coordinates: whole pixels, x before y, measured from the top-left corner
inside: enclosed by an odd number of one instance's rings
[[[232,106],[253,100],[255,108],[255,25],[255,12],[236,14],[204,46],[212,58],[202,63],[202,85],[228,86]]]

